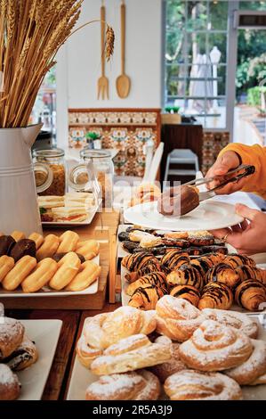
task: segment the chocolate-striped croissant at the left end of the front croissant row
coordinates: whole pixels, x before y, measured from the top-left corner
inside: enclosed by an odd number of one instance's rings
[[[141,310],[154,310],[157,301],[167,293],[167,289],[162,286],[158,288],[150,283],[145,283],[133,292],[128,305]]]

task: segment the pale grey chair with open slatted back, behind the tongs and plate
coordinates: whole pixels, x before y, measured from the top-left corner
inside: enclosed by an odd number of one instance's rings
[[[171,164],[181,164],[181,165],[194,165],[194,169],[189,168],[170,168]],[[195,152],[192,152],[189,149],[174,149],[172,152],[169,152],[166,160],[165,167],[165,182],[167,181],[170,175],[174,176],[193,176],[196,177],[197,171],[199,170],[198,158]]]

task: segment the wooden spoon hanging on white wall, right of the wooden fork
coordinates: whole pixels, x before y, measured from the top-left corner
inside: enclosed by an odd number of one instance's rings
[[[125,99],[130,92],[131,80],[125,74],[125,3],[121,4],[121,68],[122,74],[117,77],[117,94]]]

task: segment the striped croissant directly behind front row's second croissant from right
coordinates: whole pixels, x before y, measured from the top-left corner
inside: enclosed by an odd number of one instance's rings
[[[218,263],[206,273],[206,283],[224,283],[230,288],[234,288],[239,283],[239,275],[235,269],[226,263]]]

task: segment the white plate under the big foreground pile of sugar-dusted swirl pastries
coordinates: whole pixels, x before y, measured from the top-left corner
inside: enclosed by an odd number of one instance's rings
[[[266,331],[262,326],[260,326],[259,339],[266,341]],[[85,400],[85,390],[98,379],[99,377],[82,366],[76,357],[69,382],[67,400]],[[266,385],[245,386],[242,387],[242,390],[246,400],[266,400]]]

